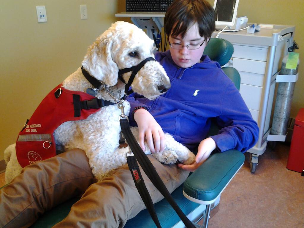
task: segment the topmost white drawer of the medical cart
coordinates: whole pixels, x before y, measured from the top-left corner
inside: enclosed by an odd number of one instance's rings
[[[250,47],[242,45],[233,45],[234,52],[232,57],[241,59],[251,59],[265,61],[267,60],[268,48],[264,47]]]

